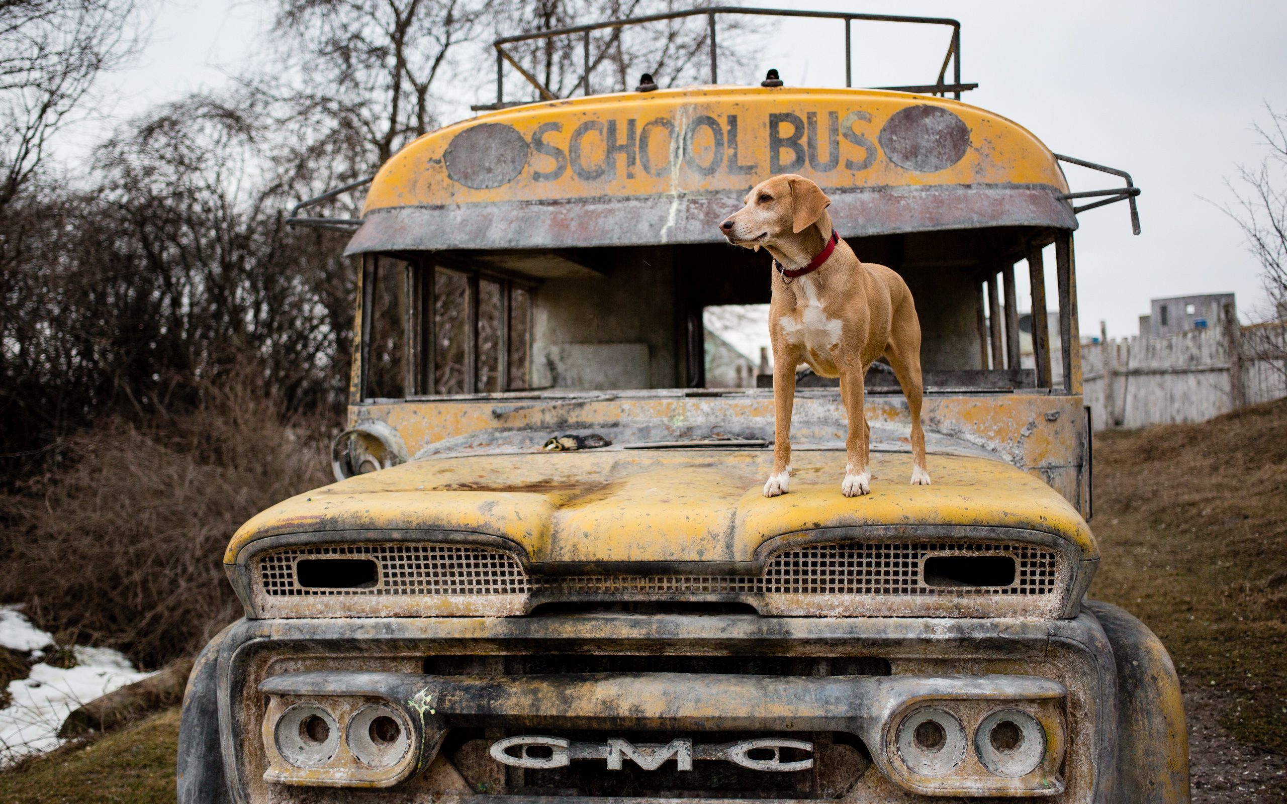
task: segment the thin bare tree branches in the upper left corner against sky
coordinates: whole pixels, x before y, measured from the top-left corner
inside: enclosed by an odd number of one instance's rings
[[[94,80],[139,45],[134,0],[0,0],[0,208]]]

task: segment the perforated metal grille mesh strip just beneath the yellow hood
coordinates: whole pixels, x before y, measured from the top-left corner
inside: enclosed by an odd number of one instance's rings
[[[380,565],[372,588],[300,587],[300,558],[366,557]],[[931,587],[921,576],[931,556],[1008,556],[1015,562],[1009,587]],[[1048,594],[1055,590],[1058,557],[1028,545],[942,542],[931,544],[844,543],[777,553],[761,578],[746,576],[574,576],[530,578],[508,553],[453,544],[359,544],[288,548],[260,558],[264,593],[351,594]]]

